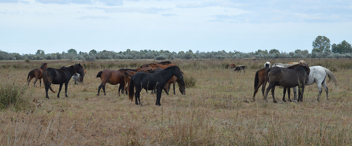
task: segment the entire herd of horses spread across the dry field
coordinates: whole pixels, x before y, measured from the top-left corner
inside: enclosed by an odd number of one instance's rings
[[[229,64],[230,68],[234,68],[234,71],[244,70],[245,65],[236,66],[233,63]],[[303,92],[305,85],[312,85],[314,83],[318,86],[318,98],[319,101],[322,86],[326,91],[326,98],[329,100],[328,88],[326,86],[326,77],[329,77],[329,81],[332,81],[335,86],[338,86],[338,82],[334,74],[321,66],[309,67],[303,60],[298,62],[290,62],[287,64],[275,63],[272,65],[270,62],[264,64],[265,68],[258,70],[254,76],[254,93],[253,100],[255,100],[256,93],[260,86],[262,86],[262,94],[264,100],[267,101],[268,92],[271,90],[274,103],[277,103],[274,97],[275,86],[283,86],[283,98],[285,100],[286,90],[288,91],[288,100],[291,101],[303,101]],[[270,68],[271,67],[271,68]],[[46,98],[49,99],[48,90],[55,93],[51,88],[51,84],[59,84],[59,91],[57,98],[59,98],[63,84],[65,83],[65,97],[67,96],[67,87],[71,78],[74,79],[75,84],[83,82],[83,77],[86,74],[86,69],[79,63],[75,65],[69,65],[59,69],[48,68],[48,63],[42,63],[40,68],[33,69],[27,76],[28,85],[32,78],[35,78],[34,86],[39,79],[39,86],[43,82],[45,85]],[[145,89],[152,90],[152,93],[156,93],[156,105],[160,104],[162,90],[169,95],[171,84],[174,87],[175,95],[175,84],[178,83],[179,90],[182,95],[186,94],[186,85],[183,80],[183,72],[180,67],[170,61],[143,64],[140,68],[136,69],[120,69],[120,70],[109,70],[105,69],[99,71],[96,77],[100,77],[101,84],[98,87],[97,96],[100,94],[100,90],[103,89],[104,95],[106,95],[105,85],[106,83],[112,85],[119,85],[118,95],[120,91],[122,94],[128,94],[128,98],[135,102],[137,105],[142,105],[140,102],[140,91]],[[328,83],[327,82],[327,83]],[[269,83],[268,88],[265,91],[266,84]],[[299,88],[297,96],[297,86]],[[294,100],[290,99],[290,88],[294,91]]]

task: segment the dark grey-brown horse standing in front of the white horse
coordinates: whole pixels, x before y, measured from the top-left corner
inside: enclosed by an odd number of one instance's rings
[[[298,93],[298,101],[303,101],[304,85],[308,82],[310,69],[308,64],[300,63],[295,69],[287,69],[280,67],[269,68],[265,71],[265,82],[269,81],[269,86],[266,88],[264,100],[267,101],[268,92],[271,90],[273,102],[277,103],[274,97],[275,86],[281,85],[286,88],[299,86],[301,88]]]

